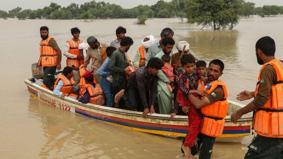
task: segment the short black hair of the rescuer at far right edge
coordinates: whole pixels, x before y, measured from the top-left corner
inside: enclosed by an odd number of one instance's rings
[[[269,36],[264,36],[258,39],[255,49],[260,49],[266,56],[274,56],[276,50],[275,41]]]

